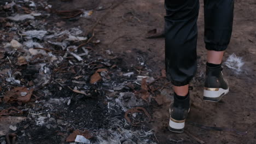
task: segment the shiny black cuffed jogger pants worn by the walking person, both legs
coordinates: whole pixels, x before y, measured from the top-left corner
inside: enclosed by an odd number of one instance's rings
[[[196,73],[199,0],[165,0],[165,65],[167,79],[184,86]],[[205,46],[224,51],[229,44],[234,0],[204,0]]]

